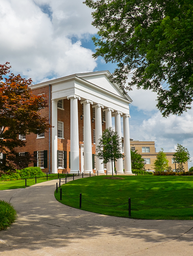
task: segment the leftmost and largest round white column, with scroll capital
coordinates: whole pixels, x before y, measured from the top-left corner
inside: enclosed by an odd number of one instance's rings
[[[79,136],[78,136],[78,100],[79,96],[71,95],[70,99],[70,173],[78,173],[79,161]]]

